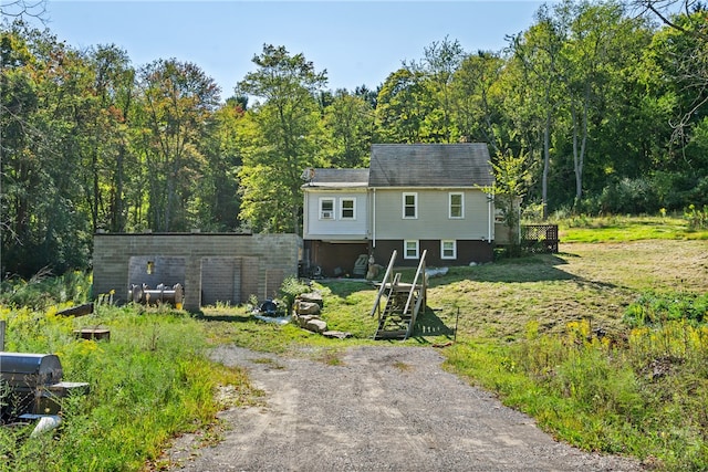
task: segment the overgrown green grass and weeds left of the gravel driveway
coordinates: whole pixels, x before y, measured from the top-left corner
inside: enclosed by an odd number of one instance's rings
[[[178,433],[215,428],[227,405],[258,392],[246,373],[206,357],[202,324],[185,313],[102,306],[63,318],[3,308],[8,350],[59,355],[64,380],[84,381],[90,394],[66,399],[59,429],[29,438],[34,424],[0,428],[3,471],[137,471],[158,462]],[[110,342],[77,339],[80,327],[106,327]],[[232,386],[217,400],[219,386]]]

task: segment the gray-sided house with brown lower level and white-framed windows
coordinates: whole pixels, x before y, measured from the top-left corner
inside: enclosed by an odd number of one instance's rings
[[[357,256],[386,264],[467,265],[493,256],[486,144],[372,146],[368,169],[313,169],[304,190],[304,259],[327,275]]]

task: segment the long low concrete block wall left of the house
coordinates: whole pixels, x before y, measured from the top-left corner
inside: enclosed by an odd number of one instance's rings
[[[244,303],[250,295],[270,298],[287,276],[298,275],[301,248],[295,234],[98,233],[93,293],[114,291],[121,303],[133,283],[180,283],[188,311],[217,301]]]

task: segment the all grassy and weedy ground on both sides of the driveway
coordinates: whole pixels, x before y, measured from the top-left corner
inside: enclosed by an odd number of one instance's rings
[[[430,279],[428,306],[404,344],[447,346],[450,371],[560,440],[657,470],[707,470],[708,231],[668,218],[574,219],[561,222],[561,240],[559,254]],[[347,346],[400,343],[372,340],[375,290],[360,281],[312,287],[324,295],[330,328],[347,339],[266,323],[244,306],[197,316],[110,304],[87,317],[53,314],[80,302],[85,285],[75,276],[45,292],[3,287],[8,349],[59,354],[65,380],[87,381],[92,392],[65,406],[54,434],[32,441],[27,428],[0,428],[2,471],[159,470],[175,436],[218,440],[215,412],[261,395],[246,371],[209,361],[220,344],[339,364]],[[111,342],[75,339],[72,331],[85,326],[110,328]]]

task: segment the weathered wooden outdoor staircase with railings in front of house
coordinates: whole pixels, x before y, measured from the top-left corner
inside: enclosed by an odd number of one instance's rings
[[[413,283],[402,283],[400,273],[393,274],[396,251],[391,255],[371,316],[378,315],[374,339],[407,339],[415,327],[420,307],[425,310],[427,280],[423,251]],[[383,308],[382,308],[383,305]]]

